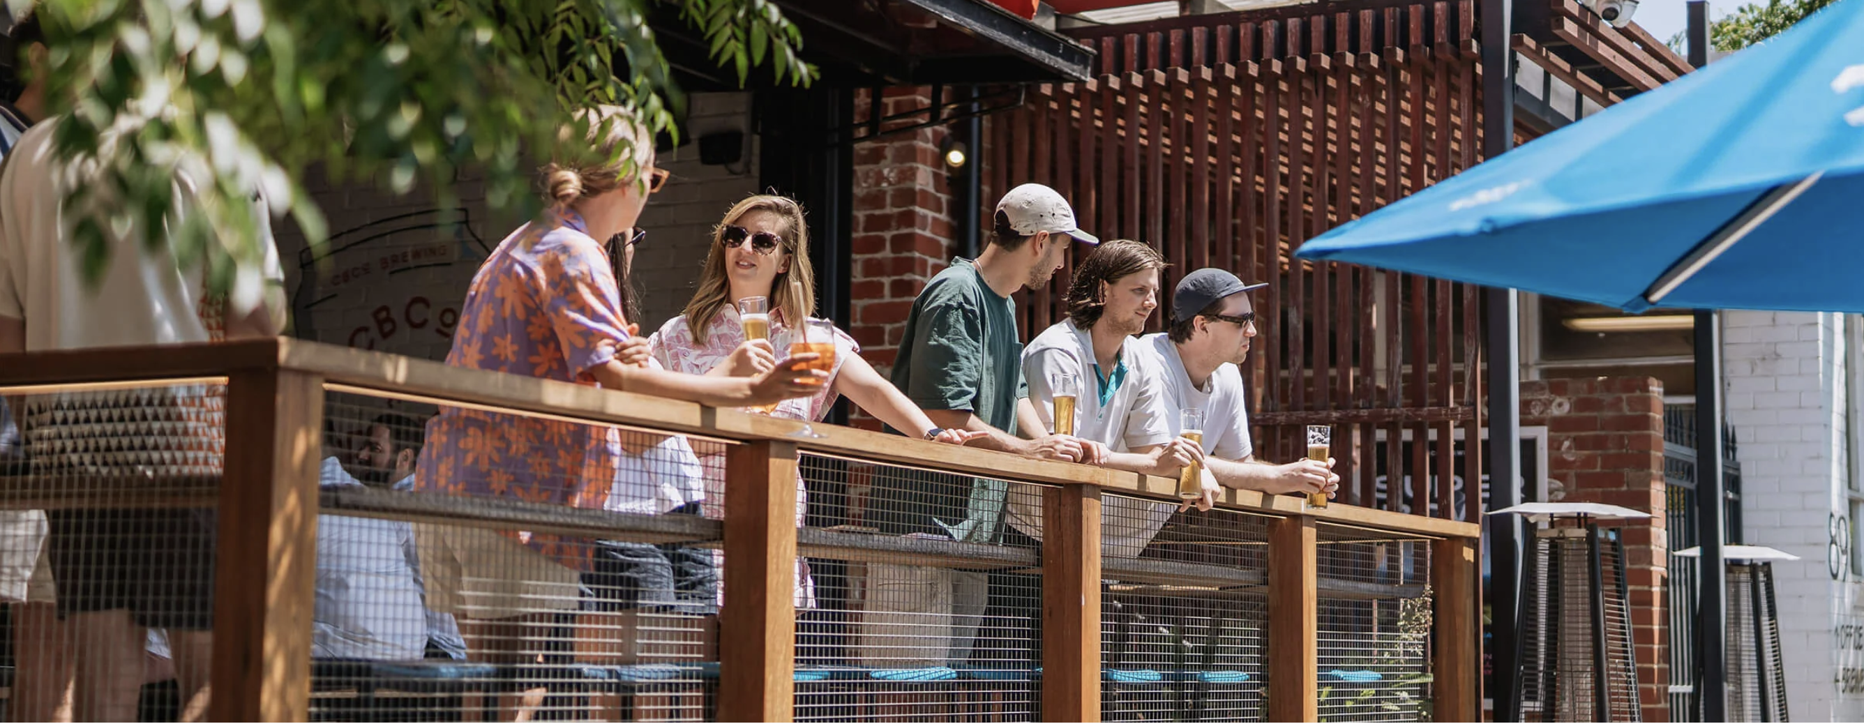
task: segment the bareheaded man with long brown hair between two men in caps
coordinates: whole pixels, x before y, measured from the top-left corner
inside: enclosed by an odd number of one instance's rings
[[[1178,437],[1178,414],[1163,394],[1161,371],[1133,355],[1146,319],[1158,310],[1159,269],[1165,258],[1137,241],[1109,241],[1076,267],[1068,285],[1068,319],[1042,330],[1023,349],[1023,377],[1036,416],[1055,429],[1057,375],[1079,381],[1074,435],[1105,446],[1105,465],[1118,470],[1176,476],[1202,459],[1197,442]],[[1089,455],[1094,457],[1094,455]],[[1102,513],[1102,547],[1109,556],[1137,556],[1165,526],[1176,506],[1126,496],[1107,496]],[[1042,539],[1042,498],[1020,487],[1010,493],[1010,526]]]

